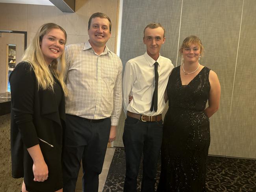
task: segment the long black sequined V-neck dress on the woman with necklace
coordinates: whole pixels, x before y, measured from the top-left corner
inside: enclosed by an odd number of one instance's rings
[[[188,85],[182,85],[180,66],[169,77],[158,192],[205,191],[210,122],[204,109],[210,92],[209,72],[202,68]]]

